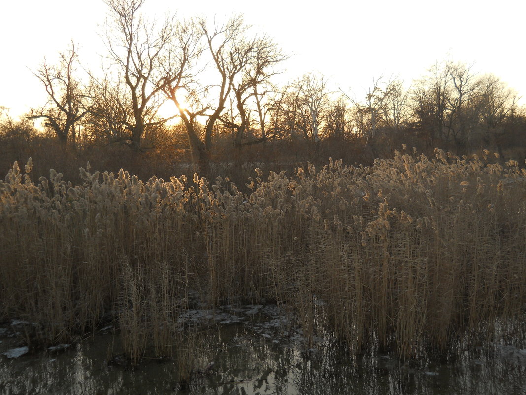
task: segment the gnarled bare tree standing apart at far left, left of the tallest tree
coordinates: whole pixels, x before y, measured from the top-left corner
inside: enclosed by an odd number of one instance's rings
[[[90,100],[84,87],[75,78],[78,48],[71,47],[59,53],[58,65],[49,65],[46,60],[33,74],[44,85],[48,102],[38,110],[32,109],[28,119],[44,118],[45,126],[64,145],[75,141],[76,126],[88,113]]]

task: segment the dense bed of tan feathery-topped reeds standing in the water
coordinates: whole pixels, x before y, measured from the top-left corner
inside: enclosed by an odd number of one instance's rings
[[[247,193],[89,166],[80,185],[54,170],[37,182],[15,162],[0,181],[0,319],[49,344],[110,317],[133,363],[177,354],[191,295],[287,304],[307,339],[323,327],[357,353],[523,337],[526,171],[435,154],[256,169]]]

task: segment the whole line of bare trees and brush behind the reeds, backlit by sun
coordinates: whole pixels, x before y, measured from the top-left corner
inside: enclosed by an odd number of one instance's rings
[[[74,43],[57,64],[39,66],[47,103],[19,121],[6,112],[0,118],[2,177],[30,156],[43,171],[89,160],[98,170],[126,167],[149,177],[328,157],[367,164],[402,143],[426,153],[440,146],[458,155],[526,154],[517,93],[469,65],[437,63],[409,89],[381,77],[361,98],[331,92],[313,73],[277,86],[287,55],[266,35],[251,34],[241,16],[225,24],[175,16],[153,23],[141,14],[143,0],[106,3],[113,19],[103,71],[81,75]],[[175,105],[171,113],[165,102]]]

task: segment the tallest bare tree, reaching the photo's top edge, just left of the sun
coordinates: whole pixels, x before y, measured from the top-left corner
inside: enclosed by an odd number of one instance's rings
[[[118,103],[120,108],[115,111],[131,112],[130,116],[122,116],[122,121],[129,131],[129,144],[135,151],[141,151],[147,129],[167,121],[156,117],[156,113],[162,101],[161,91],[169,83],[164,66],[172,59],[174,17],[167,17],[162,23],[146,22],[141,14],[144,0],[105,2],[113,16],[112,28],[107,32],[109,56],[119,69],[118,76],[124,80],[127,95],[104,93],[103,96],[128,100],[126,104]],[[103,90],[110,87],[107,82],[98,86]]]

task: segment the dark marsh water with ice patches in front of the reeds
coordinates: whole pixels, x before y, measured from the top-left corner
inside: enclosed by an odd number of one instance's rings
[[[487,344],[447,363],[405,364],[392,354],[351,358],[335,341],[315,338],[272,306],[211,314],[191,311],[201,326],[191,344],[194,369],[181,386],[177,356],[119,364],[111,328],[66,349],[0,359],[1,394],[526,394],[526,350]],[[222,324],[216,324],[223,322]],[[22,345],[0,329],[0,352]]]

